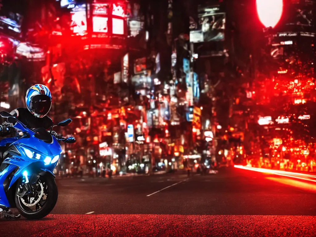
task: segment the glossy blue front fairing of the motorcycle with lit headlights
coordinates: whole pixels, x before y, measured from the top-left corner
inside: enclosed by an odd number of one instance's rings
[[[12,187],[15,187],[16,181],[25,174],[27,176],[40,173],[53,175],[52,172],[62,151],[55,137],[52,137],[52,143],[45,143],[34,137],[35,133],[32,130],[23,127],[21,124],[17,123],[14,127],[23,131],[23,133],[27,132],[29,137],[21,139],[9,137],[3,139],[5,141],[2,140],[0,142],[0,144],[11,143],[6,151],[9,157],[5,156],[7,158],[3,161],[0,168],[0,207],[6,208],[14,205],[14,196],[12,197],[12,195],[15,195],[15,190],[12,190]],[[30,154],[34,156],[30,158]],[[58,159],[51,163],[57,155]]]

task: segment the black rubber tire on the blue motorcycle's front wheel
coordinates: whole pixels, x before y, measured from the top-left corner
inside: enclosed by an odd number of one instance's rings
[[[41,176],[40,178],[42,181],[46,182],[47,189],[48,189],[48,196],[46,202],[43,207],[35,212],[30,212],[24,210],[20,203],[20,197],[15,195],[15,205],[16,208],[19,210],[21,216],[29,219],[29,220],[37,220],[47,216],[55,207],[58,199],[58,189],[55,182],[55,178],[52,175],[45,175]],[[18,192],[18,187],[16,188],[16,194]]]

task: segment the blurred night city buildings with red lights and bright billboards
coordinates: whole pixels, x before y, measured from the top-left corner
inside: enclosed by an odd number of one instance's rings
[[[296,148],[313,163],[313,1],[287,2],[273,28],[255,1],[20,2],[2,1],[1,106],[49,86],[78,141],[60,171],[271,166]]]

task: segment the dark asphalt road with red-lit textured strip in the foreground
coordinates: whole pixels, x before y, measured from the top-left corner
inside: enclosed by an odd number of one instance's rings
[[[0,220],[0,236],[316,236],[308,180],[231,168],[57,184],[51,215]]]

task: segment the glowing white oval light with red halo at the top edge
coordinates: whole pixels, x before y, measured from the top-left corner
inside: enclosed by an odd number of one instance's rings
[[[283,11],[283,0],[257,0],[257,12],[265,27],[275,27]]]

